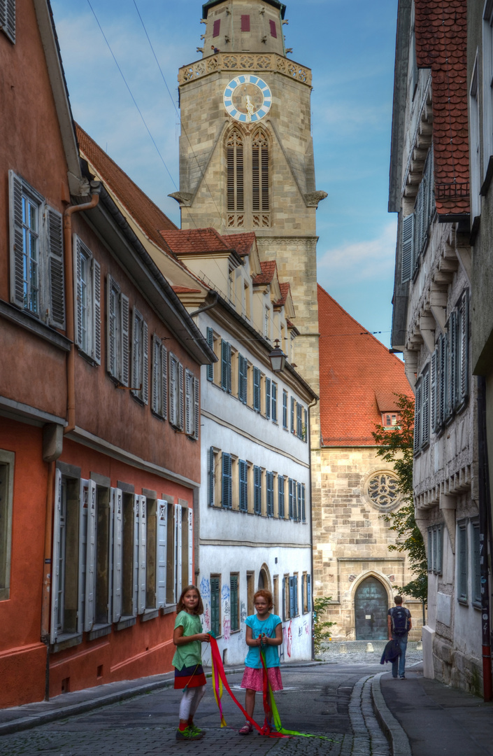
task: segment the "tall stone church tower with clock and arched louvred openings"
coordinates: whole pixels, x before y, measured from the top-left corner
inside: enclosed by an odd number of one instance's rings
[[[202,60],[180,68],[182,228],[255,231],[261,259],[291,283],[297,369],[319,392],[311,71],[287,57],[285,5],[209,0]],[[284,345],[285,346],[285,345]],[[317,409],[311,416],[319,448]]]

